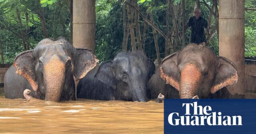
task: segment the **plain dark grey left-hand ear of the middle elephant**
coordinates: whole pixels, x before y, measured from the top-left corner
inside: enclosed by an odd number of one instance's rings
[[[109,85],[113,89],[116,89],[116,77],[114,75],[114,69],[112,67],[111,60],[102,63],[94,77]]]

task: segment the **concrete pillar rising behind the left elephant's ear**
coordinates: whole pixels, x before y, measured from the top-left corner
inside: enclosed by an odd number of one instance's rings
[[[73,0],[72,43],[94,52],[96,14],[95,0]]]

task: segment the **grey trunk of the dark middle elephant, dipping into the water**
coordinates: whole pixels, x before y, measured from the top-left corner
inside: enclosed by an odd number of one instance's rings
[[[147,102],[146,84],[133,83],[132,86],[132,99],[139,102]]]

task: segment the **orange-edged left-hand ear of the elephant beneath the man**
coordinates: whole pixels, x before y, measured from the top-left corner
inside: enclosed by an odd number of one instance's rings
[[[160,67],[161,78],[166,80],[166,84],[180,90],[179,80],[180,75],[177,65],[178,53],[173,53],[165,57]]]

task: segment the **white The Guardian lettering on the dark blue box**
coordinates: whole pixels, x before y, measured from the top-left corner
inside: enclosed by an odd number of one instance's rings
[[[186,113],[184,116],[172,112],[168,122],[172,126],[242,126],[242,116],[223,116],[221,112],[212,112],[211,106],[198,106],[197,102],[182,103]],[[193,108],[193,112],[191,109]],[[205,122],[206,121],[206,122]]]

